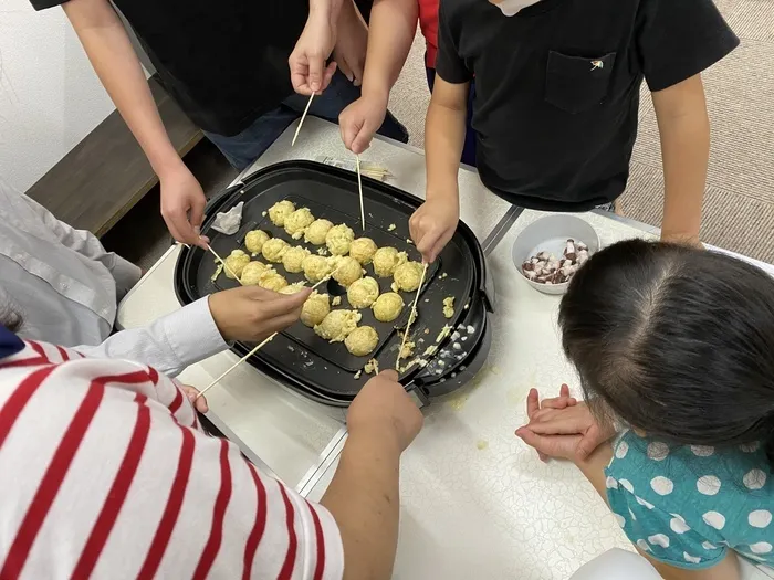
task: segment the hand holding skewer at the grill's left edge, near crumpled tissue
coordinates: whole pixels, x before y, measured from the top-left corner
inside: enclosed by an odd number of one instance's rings
[[[176,169],[159,176],[161,183],[161,217],[169,233],[184,244],[207,247],[209,240],[199,235],[205,221],[207,198],[201,186],[188,168],[180,164]]]

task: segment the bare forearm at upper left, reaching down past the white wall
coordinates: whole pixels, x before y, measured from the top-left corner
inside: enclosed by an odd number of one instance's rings
[[[105,0],[63,6],[100,81],[160,177],[182,164],[167,136],[137,54]]]

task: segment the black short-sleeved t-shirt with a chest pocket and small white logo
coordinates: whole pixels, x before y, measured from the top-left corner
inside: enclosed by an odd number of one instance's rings
[[[510,18],[485,0],[441,0],[436,68],[475,78],[489,189],[586,211],[626,188],[642,78],[662,91],[738,44],[712,0],[542,0]]]

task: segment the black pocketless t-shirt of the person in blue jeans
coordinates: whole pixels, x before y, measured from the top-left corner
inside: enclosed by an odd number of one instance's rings
[[[66,1],[31,0],[35,10]],[[287,59],[306,23],[308,0],[114,3],[164,86],[202,129],[241,133],[293,93]]]

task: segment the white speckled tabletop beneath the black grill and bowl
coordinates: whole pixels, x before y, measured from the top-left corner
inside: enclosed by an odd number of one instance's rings
[[[248,172],[287,159],[348,155],[333,125],[307,118],[291,149],[294,130],[295,125]],[[421,151],[376,140],[363,159],[378,160],[395,175],[393,184],[423,197]],[[547,394],[562,382],[577,384],[559,348],[558,298],[533,291],[511,260],[519,231],[540,213],[519,215],[466,169],[460,191],[462,219],[489,254],[498,292],[492,349],[470,384],[427,408],[425,429],[404,455],[395,578],[566,579],[607,549],[631,548],[572,465],[541,463],[513,435],[525,421],[532,387]],[[582,217],[603,244],[658,234],[609,214]],[[122,326],[146,324],[178,307],[171,282],[176,256],[170,250],[126,297],[118,314]],[[759,265],[774,274],[774,266]],[[208,384],[236,359],[230,352],[211,357],[187,369],[181,380]],[[346,437],[343,411],[302,399],[249,366],[209,391],[208,400],[210,419],[248,456],[303,494],[322,496]]]

